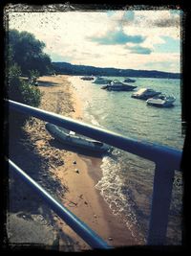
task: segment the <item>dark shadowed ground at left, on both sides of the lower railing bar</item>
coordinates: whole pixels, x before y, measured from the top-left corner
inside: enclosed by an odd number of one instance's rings
[[[25,146],[24,142],[29,142],[29,137],[25,132],[22,133],[22,140],[14,138],[10,134],[9,140],[9,157],[19,166],[24,172],[30,175],[36,182],[44,187],[47,192],[53,195],[54,198],[59,200],[57,195],[64,196],[67,187],[61,184],[59,180],[53,178],[49,172],[49,162],[45,157],[40,155],[32,144]],[[13,171],[10,172],[9,177],[9,199],[8,207],[10,212],[22,211],[35,214],[38,208],[41,208],[45,216],[51,216],[51,209],[43,202],[41,198],[33,193],[32,188],[25,183]]]

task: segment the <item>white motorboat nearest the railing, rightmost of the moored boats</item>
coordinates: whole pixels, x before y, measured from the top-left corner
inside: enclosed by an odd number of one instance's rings
[[[159,107],[170,107],[174,105],[176,98],[174,96],[166,96],[165,94],[160,94],[146,101],[147,105],[154,105]]]

